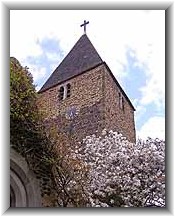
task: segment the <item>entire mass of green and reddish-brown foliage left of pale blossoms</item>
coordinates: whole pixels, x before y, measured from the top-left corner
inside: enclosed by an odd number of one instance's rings
[[[11,147],[25,157],[40,180],[44,206],[85,206],[81,187],[83,164],[80,167],[80,162],[70,158],[66,136],[58,134],[56,126],[43,123],[32,76],[11,58]]]

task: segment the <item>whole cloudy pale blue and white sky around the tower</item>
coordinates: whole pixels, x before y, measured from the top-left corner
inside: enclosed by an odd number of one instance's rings
[[[136,108],[137,137],[165,138],[165,11],[10,11],[10,55],[39,89],[83,34]]]

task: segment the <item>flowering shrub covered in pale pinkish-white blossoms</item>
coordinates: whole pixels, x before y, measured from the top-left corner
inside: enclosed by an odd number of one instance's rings
[[[164,207],[165,142],[130,143],[103,130],[76,145],[73,157],[89,169],[85,195],[90,207]]]

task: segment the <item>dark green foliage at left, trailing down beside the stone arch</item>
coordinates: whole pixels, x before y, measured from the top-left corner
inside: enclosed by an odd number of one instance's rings
[[[51,194],[55,154],[37,108],[32,75],[15,58],[10,58],[10,145],[40,179],[42,194]]]

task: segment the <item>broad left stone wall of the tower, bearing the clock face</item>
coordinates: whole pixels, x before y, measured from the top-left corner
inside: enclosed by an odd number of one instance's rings
[[[87,135],[101,132],[104,128],[102,67],[39,94],[38,106],[48,125],[56,123],[61,133],[74,136],[79,141]],[[59,89],[67,83],[71,85],[71,96],[60,101]],[[68,119],[66,113],[72,107],[76,108],[78,114],[73,119]]]

